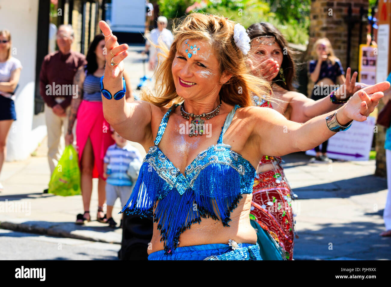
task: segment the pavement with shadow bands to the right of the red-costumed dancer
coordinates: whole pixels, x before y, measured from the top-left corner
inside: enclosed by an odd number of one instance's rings
[[[304,153],[283,158],[298,195],[295,259],[391,259],[391,238],[379,236],[387,181],[373,176],[375,160],[308,164]]]

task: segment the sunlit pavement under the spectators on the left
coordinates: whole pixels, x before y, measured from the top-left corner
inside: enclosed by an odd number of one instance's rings
[[[145,155],[140,144],[134,144]],[[19,162],[5,162],[0,181],[4,192],[0,193],[0,204],[7,205],[8,212],[0,209],[0,227],[23,232],[34,232],[90,241],[121,243],[122,229],[109,228],[96,221],[98,195],[97,179],[93,179],[91,197],[91,220],[86,225],[75,225],[76,215],[83,213],[81,195],[56,196],[43,194],[50,180],[47,161],[47,138],[36,150],[36,156]],[[11,210],[14,209],[14,210]],[[122,209],[117,199],[113,218],[119,226]],[[5,210],[6,211],[6,210]],[[22,211],[22,212],[21,212]]]

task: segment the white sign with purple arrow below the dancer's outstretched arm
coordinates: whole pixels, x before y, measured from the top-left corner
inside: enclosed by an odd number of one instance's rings
[[[346,131],[337,132],[330,137],[327,144],[327,157],[343,160],[369,160],[375,117],[369,116],[366,121],[353,121]],[[306,155],[315,156],[314,149],[307,150]]]

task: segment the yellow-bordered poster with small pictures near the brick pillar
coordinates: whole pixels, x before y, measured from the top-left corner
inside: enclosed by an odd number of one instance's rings
[[[377,46],[360,45],[359,82],[376,84]]]

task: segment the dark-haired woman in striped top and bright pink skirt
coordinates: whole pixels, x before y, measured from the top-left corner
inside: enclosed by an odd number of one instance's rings
[[[98,178],[98,214],[99,222],[106,222],[103,204],[106,200],[106,178],[103,173],[103,158],[107,148],[114,143],[110,126],[103,116],[102,94],[100,93],[100,77],[103,76],[105,56],[102,52],[105,45],[103,34],[95,36],[87,52],[87,65],[80,67],[74,77],[78,95],[72,98],[69,115],[66,144],[74,141],[72,130],[75,119],[76,147],[79,152],[81,170],[81,191],[83,196],[84,214],[77,215],[77,224],[90,221],[90,201],[92,193],[92,178]],[[126,82],[126,100],[134,100],[129,77],[124,75]]]

